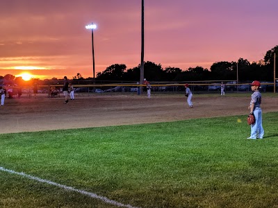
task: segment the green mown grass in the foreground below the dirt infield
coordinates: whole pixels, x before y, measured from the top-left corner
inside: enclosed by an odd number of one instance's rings
[[[132,207],[277,207],[278,112],[0,135],[0,166]],[[242,120],[242,123],[238,122]],[[0,171],[0,207],[115,207]]]

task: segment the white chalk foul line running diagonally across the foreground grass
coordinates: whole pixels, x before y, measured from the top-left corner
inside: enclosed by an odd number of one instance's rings
[[[102,200],[102,201],[104,201],[104,202],[106,202],[108,204],[116,205],[117,207],[139,208],[139,207],[132,207],[131,205],[123,205],[120,202],[116,202],[114,200],[110,200],[110,199],[108,199],[108,198],[106,198],[104,196],[98,196],[95,193],[91,193],[91,192],[88,192],[88,191],[83,191],[83,190],[80,190],[80,189],[75,189],[74,187],[67,187],[65,185],[58,184],[56,182],[51,182],[50,180],[44,180],[44,179],[42,179],[40,177],[35,177],[35,176],[32,176],[32,175],[28,175],[26,173],[19,173],[19,172],[13,171],[13,170],[9,170],[9,169],[3,168],[1,166],[0,166],[0,171],[5,171],[5,172],[8,172],[8,173],[13,173],[13,174],[16,174],[16,175],[22,175],[23,177],[27,177],[27,178],[29,178],[31,180],[36,180],[38,182],[51,184],[51,185],[54,185],[56,187],[60,187],[60,188],[66,189],[66,190],[75,191],[75,192],[81,193],[83,195],[90,196],[91,198],[96,198],[96,199]]]

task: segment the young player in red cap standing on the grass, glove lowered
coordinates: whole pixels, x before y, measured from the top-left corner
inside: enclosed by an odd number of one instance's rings
[[[251,124],[251,135],[247,139],[263,139],[264,130],[263,130],[263,116],[261,111],[261,92],[259,88],[261,83],[259,81],[254,81],[251,85],[253,92],[251,96],[251,101],[248,109],[250,114],[254,114],[256,122]]]

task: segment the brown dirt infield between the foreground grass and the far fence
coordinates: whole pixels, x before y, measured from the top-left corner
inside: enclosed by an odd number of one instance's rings
[[[248,114],[246,97],[193,96],[188,108],[181,95],[79,96],[69,104],[61,98],[6,98],[0,108],[1,134],[106,125],[178,121],[199,117]],[[278,97],[263,97],[263,112],[278,110]]]

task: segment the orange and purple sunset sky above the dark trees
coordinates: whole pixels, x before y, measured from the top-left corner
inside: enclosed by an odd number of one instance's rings
[[[165,67],[263,59],[278,45],[277,0],[145,0],[145,61]],[[92,77],[140,64],[140,0],[1,0],[0,76]],[[139,78],[139,75],[138,75]]]

